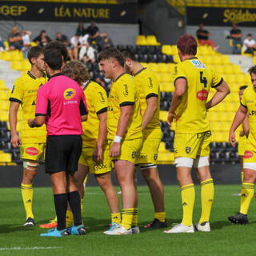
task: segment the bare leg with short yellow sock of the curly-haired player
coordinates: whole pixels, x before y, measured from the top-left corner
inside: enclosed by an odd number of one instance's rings
[[[114,186],[111,180],[111,172],[105,174],[94,174],[98,185],[102,188],[106,196],[106,201],[110,206],[111,211],[111,222],[116,224],[121,224],[121,214],[119,210],[119,200],[118,194],[114,190]]]

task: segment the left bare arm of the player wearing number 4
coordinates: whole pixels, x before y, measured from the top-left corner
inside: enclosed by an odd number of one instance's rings
[[[185,78],[178,78],[175,82],[175,90],[174,90],[174,97],[172,99],[167,123],[171,127],[171,123],[174,121],[174,118],[176,118],[175,110],[179,106],[179,104],[182,102],[182,95],[186,91],[186,79]]]

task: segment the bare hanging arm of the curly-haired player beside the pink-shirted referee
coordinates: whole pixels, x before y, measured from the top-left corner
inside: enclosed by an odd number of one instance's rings
[[[106,142],[106,117],[107,112],[98,114],[99,125],[98,125],[98,140],[93,153],[93,159],[95,162],[102,162],[103,145]]]

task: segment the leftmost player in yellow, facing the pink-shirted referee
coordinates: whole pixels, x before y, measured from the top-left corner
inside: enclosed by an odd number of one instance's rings
[[[11,144],[20,147],[20,154],[23,161],[22,176],[22,200],[26,210],[26,223],[23,226],[34,226],[34,214],[32,211],[33,185],[32,182],[38,169],[38,160],[44,158],[46,146],[46,126],[31,129],[27,125],[27,119],[34,118],[38,88],[47,82],[44,63],[44,54],[41,46],[31,47],[27,58],[31,69],[22,74],[14,82],[10,94],[10,133]],[[21,106],[22,123],[20,136],[17,132],[17,115]]]

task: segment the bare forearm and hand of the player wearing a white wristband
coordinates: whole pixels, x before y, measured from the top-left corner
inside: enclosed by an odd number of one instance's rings
[[[128,122],[130,119],[130,114],[132,112],[133,106],[121,106],[121,114],[118,120],[118,130],[116,136],[122,138],[126,133]],[[120,154],[120,142],[114,142],[110,148],[110,157],[116,157]]]

